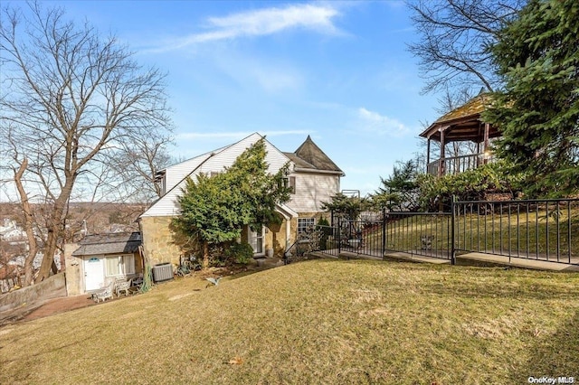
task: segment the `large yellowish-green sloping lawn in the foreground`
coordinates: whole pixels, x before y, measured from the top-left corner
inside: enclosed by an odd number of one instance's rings
[[[0,383],[579,378],[579,275],[318,259],[0,329]]]

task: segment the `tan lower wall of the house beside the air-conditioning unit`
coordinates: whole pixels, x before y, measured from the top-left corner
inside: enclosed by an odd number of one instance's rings
[[[179,265],[182,249],[179,237],[170,229],[173,217],[142,217],[140,219],[143,236],[143,251],[151,266],[171,262]]]

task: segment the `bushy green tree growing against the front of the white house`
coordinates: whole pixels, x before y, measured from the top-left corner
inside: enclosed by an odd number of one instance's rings
[[[245,226],[253,230],[279,222],[277,204],[289,201],[283,178],[286,165],[268,174],[265,141],[260,139],[238,156],[223,173],[188,178],[178,198],[181,215],[173,220],[177,230],[201,243],[204,268],[209,266],[209,245],[237,239]]]

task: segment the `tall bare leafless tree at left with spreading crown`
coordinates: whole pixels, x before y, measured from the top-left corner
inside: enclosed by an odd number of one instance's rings
[[[8,151],[13,168],[23,170],[28,198],[50,205],[41,281],[62,241],[71,197],[112,192],[118,173],[109,163],[123,143],[163,132],[170,120],[163,73],[139,66],[89,23],[65,20],[62,9],[28,8],[6,7],[0,19],[0,129],[12,138]]]

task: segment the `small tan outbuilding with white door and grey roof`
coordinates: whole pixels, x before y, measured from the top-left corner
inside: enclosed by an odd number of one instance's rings
[[[138,277],[143,272],[140,232],[87,235],[64,246],[69,296],[90,293],[111,279]]]

